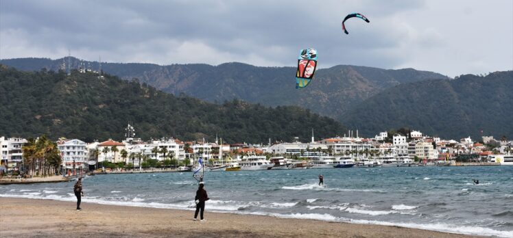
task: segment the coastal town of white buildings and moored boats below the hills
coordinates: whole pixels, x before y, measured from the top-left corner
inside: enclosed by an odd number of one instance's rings
[[[55,173],[73,176],[86,172],[187,171],[200,158],[212,171],[513,165],[513,141],[505,137],[495,140],[483,136],[481,142],[475,142],[470,137],[443,140],[420,131],[409,131],[407,135],[381,132],[374,137],[359,137],[357,131],[348,131],[342,137],[315,140],[312,130],[310,142],[300,142],[295,137],[291,142],[227,144],[217,137],[214,142],[184,142],[172,137],[145,142],[135,137],[132,125],[128,124],[125,130],[126,140],[121,142],[109,139],[86,143],[60,138],[56,141],[60,166]],[[2,174],[27,174],[25,144],[24,138],[0,137]]]

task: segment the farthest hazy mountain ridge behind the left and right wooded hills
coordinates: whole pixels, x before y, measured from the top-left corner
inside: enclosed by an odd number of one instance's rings
[[[5,64],[20,70],[58,70],[63,60],[78,68],[80,59],[2,59]],[[99,67],[98,62],[82,62]],[[139,79],[159,90],[180,93],[211,103],[239,98],[249,103],[267,106],[296,105],[340,120],[342,114],[370,96],[401,83],[425,79],[448,79],[435,72],[412,68],[384,70],[364,66],[334,66],[321,68],[313,82],[302,90],[296,89],[296,68],[257,67],[249,64],[118,64],[102,62],[102,71],[121,79]]]

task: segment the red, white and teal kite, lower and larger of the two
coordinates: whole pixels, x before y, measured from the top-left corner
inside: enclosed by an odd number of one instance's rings
[[[298,57],[298,70],[296,70],[296,88],[305,88],[313,78],[317,68],[317,51],[303,49]]]

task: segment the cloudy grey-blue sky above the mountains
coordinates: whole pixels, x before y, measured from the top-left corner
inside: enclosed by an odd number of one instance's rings
[[[359,12],[370,23],[346,14]],[[513,1],[1,0],[0,59],[513,70]]]

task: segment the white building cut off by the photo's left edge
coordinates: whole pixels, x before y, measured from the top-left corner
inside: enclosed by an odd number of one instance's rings
[[[9,168],[19,167],[23,161],[23,152],[21,148],[27,140],[23,138],[5,138],[0,137],[0,162],[7,164]]]

